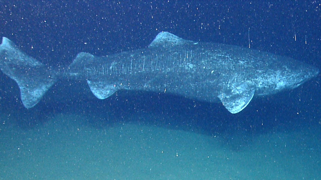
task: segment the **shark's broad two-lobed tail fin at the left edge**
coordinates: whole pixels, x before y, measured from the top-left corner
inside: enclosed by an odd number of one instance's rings
[[[21,52],[6,37],[0,45],[0,69],[17,82],[26,108],[36,105],[57,79],[50,68]]]

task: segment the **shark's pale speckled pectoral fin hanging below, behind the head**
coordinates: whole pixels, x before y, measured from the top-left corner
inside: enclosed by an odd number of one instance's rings
[[[223,106],[232,114],[236,114],[243,110],[252,100],[255,89],[244,88],[239,86],[222,92],[217,97],[221,100]]]

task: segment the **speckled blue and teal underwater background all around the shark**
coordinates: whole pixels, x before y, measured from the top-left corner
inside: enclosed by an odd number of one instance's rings
[[[321,68],[320,1],[0,1],[0,37],[53,67],[161,31]],[[0,71],[0,179],[321,179],[320,75],[237,114],[173,94],[58,81],[33,108]]]

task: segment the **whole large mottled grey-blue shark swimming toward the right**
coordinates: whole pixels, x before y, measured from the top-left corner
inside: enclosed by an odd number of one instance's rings
[[[79,53],[63,69],[37,61],[3,37],[0,69],[18,84],[26,108],[35,106],[58,79],[67,78],[86,80],[99,99],[120,89],[163,92],[221,102],[233,114],[254,95],[293,89],[319,73],[316,67],[273,53],[194,42],[168,32],[160,32],[143,49],[104,57]]]

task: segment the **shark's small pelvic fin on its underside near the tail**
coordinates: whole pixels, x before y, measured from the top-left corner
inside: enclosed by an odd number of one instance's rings
[[[117,91],[117,88],[114,85],[104,81],[87,80],[87,84],[90,87],[91,92],[98,99],[106,99]]]

